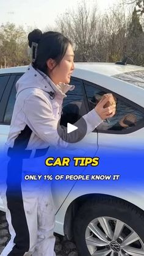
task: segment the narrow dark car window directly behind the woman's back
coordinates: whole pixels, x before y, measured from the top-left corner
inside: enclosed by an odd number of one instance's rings
[[[7,102],[7,108],[5,111],[5,115],[4,115],[4,123],[5,124],[10,124],[11,119],[12,119],[12,113],[13,113],[13,108],[15,105],[15,97],[16,97],[16,87],[15,84],[18,81],[18,79],[21,77],[21,75],[17,75],[15,82],[13,84],[12,90],[10,92],[10,97],[9,100]]]

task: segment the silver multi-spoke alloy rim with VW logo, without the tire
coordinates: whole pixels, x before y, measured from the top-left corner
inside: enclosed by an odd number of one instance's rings
[[[85,241],[93,256],[144,256],[144,243],[139,235],[118,219],[93,219],[87,225]]]

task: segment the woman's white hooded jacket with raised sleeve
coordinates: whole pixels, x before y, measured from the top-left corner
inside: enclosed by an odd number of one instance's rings
[[[49,145],[67,147],[68,143],[57,133],[57,123],[62,112],[63,98],[67,97],[65,93],[73,89],[74,86],[68,84],[56,86],[48,76],[29,65],[26,73],[16,83],[16,102],[7,139],[8,147],[13,147],[16,137],[26,125],[32,130],[26,149],[46,148]],[[48,92],[54,92],[54,99],[49,97]],[[87,134],[103,122],[95,109],[83,118],[87,123]]]

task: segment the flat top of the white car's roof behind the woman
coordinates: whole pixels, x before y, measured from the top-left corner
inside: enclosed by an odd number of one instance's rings
[[[126,73],[135,70],[144,70],[144,67],[136,65],[117,65],[114,63],[105,62],[75,62],[76,69],[87,70],[99,73],[106,76],[114,76],[120,73]],[[0,68],[0,74],[2,73],[24,73],[27,66],[13,67],[13,68]]]

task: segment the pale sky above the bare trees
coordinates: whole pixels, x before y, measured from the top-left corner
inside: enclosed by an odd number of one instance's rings
[[[46,26],[54,26],[57,16],[68,9],[76,9],[82,0],[0,0],[0,26],[7,22],[16,26],[38,27],[43,30]],[[101,12],[107,10],[117,0],[85,0],[88,5],[97,2]]]

